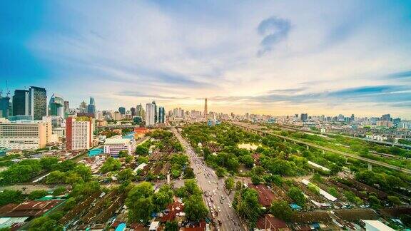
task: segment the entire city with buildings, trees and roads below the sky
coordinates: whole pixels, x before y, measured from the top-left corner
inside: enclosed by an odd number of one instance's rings
[[[1,94],[0,230],[411,229],[411,121],[389,113]]]

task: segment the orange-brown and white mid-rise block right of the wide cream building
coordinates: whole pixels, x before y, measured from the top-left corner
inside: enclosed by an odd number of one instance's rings
[[[66,150],[83,150],[93,145],[92,117],[79,116],[66,119]]]

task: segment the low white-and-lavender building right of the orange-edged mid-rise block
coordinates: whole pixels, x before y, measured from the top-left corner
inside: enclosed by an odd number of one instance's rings
[[[120,135],[108,138],[104,142],[104,153],[117,157],[121,150],[126,150],[128,155],[132,155],[136,148],[136,142],[133,139],[121,138]]]

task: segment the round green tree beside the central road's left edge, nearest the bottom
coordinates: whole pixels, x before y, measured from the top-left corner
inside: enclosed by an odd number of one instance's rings
[[[196,222],[204,219],[208,214],[201,195],[191,195],[188,197],[184,202],[184,212],[186,212],[188,220]]]

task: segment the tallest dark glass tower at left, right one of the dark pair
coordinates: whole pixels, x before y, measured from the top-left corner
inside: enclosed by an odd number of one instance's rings
[[[45,88],[29,88],[29,114],[34,120],[47,116],[47,91]]]

